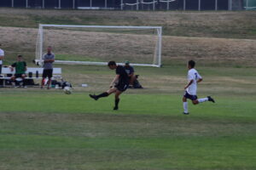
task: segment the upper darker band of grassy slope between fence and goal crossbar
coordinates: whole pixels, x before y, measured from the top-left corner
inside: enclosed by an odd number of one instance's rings
[[[37,28],[43,24],[163,26],[164,35],[256,37],[256,12],[144,12],[0,8],[1,26]]]

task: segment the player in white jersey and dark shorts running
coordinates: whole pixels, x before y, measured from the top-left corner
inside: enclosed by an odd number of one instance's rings
[[[188,110],[188,102],[187,99],[191,99],[192,103],[194,105],[200,104],[205,101],[212,101],[212,103],[215,103],[214,99],[212,99],[211,96],[208,96],[207,98],[202,98],[202,99],[197,99],[196,96],[196,88],[197,88],[197,83],[202,81],[202,77],[200,74],[195,70],[195,61],[194,60],[189,60],[188,63],[188,84],[185,86],[185,94],[183,95],[183,109],[184,112],[183,114],[189,115],[189,110]]]

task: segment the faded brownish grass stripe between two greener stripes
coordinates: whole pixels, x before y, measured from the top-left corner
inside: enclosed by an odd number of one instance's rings
[[[253,121],[106,114],[1,114],[1,135],[86,138],[254,136]]]

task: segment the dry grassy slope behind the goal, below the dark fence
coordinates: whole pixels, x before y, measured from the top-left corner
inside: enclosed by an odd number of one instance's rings
[[[173,11],[150,13],[145,11],[73,11],[0,8],[0,26],[3,26],[0,27],[0,36],[3,37],[1,42],[8,56],[4,62],[9,65],[15,59],[16,54],[24,54],[29,63],[34,59],[39,23],[163,26],[162,58],[164,65],[177,65],[177,63],[181,64],[187,59],[200,59],[203,65],[254,67],[256,63],[256,42],[254,40],[256,25],[253,20],[255,18],[255,11],[218,13]],[[12,26],[15,26],[15,28]],[[11,36],[6,36],[9,34]],[[14,38],[15,42],[13,41]],[[69,37],[66,38],[68,39]],[[102,54],[116,55],[114,51],[117,49],[105,49],[103,42],[96,44],[101,49],[98,50],[99,52],[97,54],[94,47],[90,48],[92,42],[95,41],[90,39],[90,37],[87,38],[88,44],[86,42],[79,42],[78,40],[76,43],[68,44],[68,46],[73,49],[73,47],[78,46],[77,43],[83,44],[87,48],[84,48],[82,51],[89,56],[91,51],[94,52],[93,56]],[[237,40],[236,38],[240,39]],[[252,40],[247,40],[247,38]],[[56,43],[59,44],[59,42]],[[139,42],[139,44],[144,43],[143,40]],[[103,45],[101,46],[101,44]],[[127,46],[125,46],[125,43],[120,41],[119,44],[120,48],[126,49]],[[57,48],[66,46],[67,44],[61,47],[56,45],[55,51],[57,51]],[[134,47],[132,49],[127,48],[127,50],[122,50],[122,53],[125,53],[125,51],[129,53],[133,49]],[[86,50],[89,52],[86,53]],[[127,53],[124,54],[124,56],[126,55]],[[79,59],[79,55],[73,59],[76,58]]]

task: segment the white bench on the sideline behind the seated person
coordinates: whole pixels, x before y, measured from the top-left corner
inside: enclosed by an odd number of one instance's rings
[[[42,79],[43,71],[44,71],[43,68],[27,67],[26,79]],[[32,77],[28,77],[29,72],[32,73]],[[38,72],[38,77],[37,77],[37,72]],[[3,87],[5,86],[5,80],[10,79],[10,77],[8,77],[9,74],[15,75],[15,69],[14,71],[11,71],[9,67],[3,67],[2,77],[0,77],[0,79],[3,80]],[[61,68],[54,68],[52,74],[53,74],[53,77],[61,77]]]

